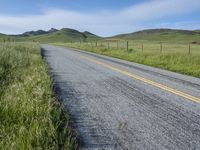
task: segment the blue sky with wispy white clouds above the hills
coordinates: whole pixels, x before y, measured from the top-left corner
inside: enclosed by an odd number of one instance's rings
[[[148,28],[200,29],[200,0],[4,0],[0,32],[74,28],[102,36]]]

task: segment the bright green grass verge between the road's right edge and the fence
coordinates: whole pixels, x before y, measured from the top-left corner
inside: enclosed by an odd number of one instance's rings
[[[79,43],[54,43],[54,45],[78,48],[89,52],[98,53],[101,55],[116,57],[140,64],[145,64],[153,67],[162,68],[194,77],[200,78],[200,54],[186,54],[180,50],[173,50],[173,53],[155,51],[138,51],[137,49],[126,48],[107,48],[106,46],[92,46]],[[146,47],[148,49],[148,47]],[[199,50],[200,51],[200,50]]]

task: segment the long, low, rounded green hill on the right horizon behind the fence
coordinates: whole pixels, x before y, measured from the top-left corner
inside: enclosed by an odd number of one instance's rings
[[[134,33],[116,35],[110,38],[124,40],[193,42],[196,40],[200,40],[200,32],[175,29],[149,29]]]

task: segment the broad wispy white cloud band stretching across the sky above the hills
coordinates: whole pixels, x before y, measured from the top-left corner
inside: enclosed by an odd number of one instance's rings
[[[100,35],[131,32],[148,27],[177,27],[178,22],[167,22],[166,18],[179,17],[200,11],[199,0],[149,0],[119,11],[79,12],[47,9],[39,15],[0,15],[0,32],[22,33],[29,30],[75,28],[89,30]],[[156,24],[156,20],[162,20]],[[151,22],[155,22],[154,25]],[[164,25],[166,26],[164,26]],[[197,27],[194,21],[180,23],[180,28]]]

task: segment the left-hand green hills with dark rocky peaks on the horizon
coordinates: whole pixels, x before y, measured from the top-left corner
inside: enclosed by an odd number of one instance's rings
[[[61,30],[51,29],[49,31],[30,31],[21,35],[7,36],[0,35],[0,42],[6,41],[37,41],[41,43],[52,42],[83,42],[83,41],[95,41],[101,39],[99,36],[90,32],[79,32],[74,29],[63,28]]]

